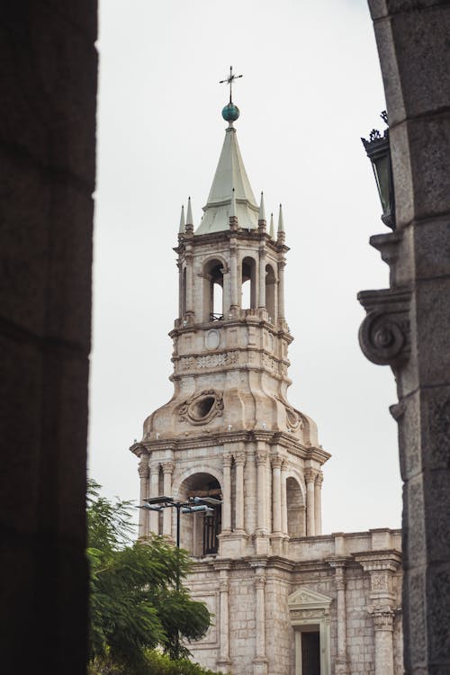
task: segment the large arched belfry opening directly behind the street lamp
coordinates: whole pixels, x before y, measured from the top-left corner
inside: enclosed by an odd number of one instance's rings
[[[181,484],[180,499],[212,497],[221,500],[220,482],[211,473],[194,473]],[[201,557],[217,554],[221,530],[221,505],[212,505],[209,513],[182,513],[180,541],[190,554]]]

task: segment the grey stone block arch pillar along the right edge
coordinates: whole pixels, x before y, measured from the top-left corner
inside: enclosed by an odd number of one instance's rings
[[[397,231],[374,238],[374,245],[392,267],[391,289],[378,310],[389,315],[391,328],[395,324],[403,339],[391,365],[398,384],[399,404],[392,413],[399,423],[404,482],[405,671],[448,675],[450,3],[369,0],[369,5],[396,197]]]

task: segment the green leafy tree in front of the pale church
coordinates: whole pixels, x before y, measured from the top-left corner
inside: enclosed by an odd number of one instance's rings
[[[117,673],[125,668],[127,675],[164,673],[150,669],[151,658],[159,657],[148,650],[159,645],[169,657],[187,657],[178,636],[198,640],[210,626],[210,614],[202,602],[189,597],[182,583],[188,554],[159,536],[133,544],[130,502],[112,503],[99,489],[90,482],[87,496],[91,670],[112,674],[113,663]],[[101,663],[110,670],[98,670]],[[177,671],[167,675],[172,672]]]

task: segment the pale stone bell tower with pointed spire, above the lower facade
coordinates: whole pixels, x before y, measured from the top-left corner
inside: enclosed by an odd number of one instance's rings
[[[221,500],[183,518],[193,556],[289,556],[292,537],[321,533],[321,465],[315,423],[288,401],[285,244],[280,205],[267,227],[238,147],[238,107],[222,110],[225,139],[201,222],[181,213],[179,312],[170,332],[174,395],[144,423],[140,497]],[[175,515],[174,515],[175,516]],[[139,534],[174,536],[175,517],[140,511]]]

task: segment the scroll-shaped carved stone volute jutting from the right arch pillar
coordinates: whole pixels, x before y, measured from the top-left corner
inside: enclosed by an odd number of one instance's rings
[[[359,344],[369,361],[396,368],[410,356],[410,289],[392,288],[358,293],[367,316]]]

